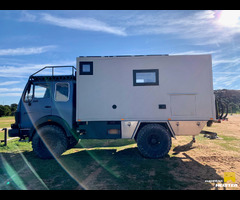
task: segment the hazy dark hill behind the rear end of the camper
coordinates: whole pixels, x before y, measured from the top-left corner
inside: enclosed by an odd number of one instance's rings
[[[239,113],[240,112],[240,90],[214,90],[216,98],[228,103],[229,112]]]

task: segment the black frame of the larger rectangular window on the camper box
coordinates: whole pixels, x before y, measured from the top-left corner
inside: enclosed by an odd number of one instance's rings
[[[137,73],[155,73],[155,82],[137,83]],[[159,85],[158,69],[134,69],[133,70],[133,86],[156,86]]]

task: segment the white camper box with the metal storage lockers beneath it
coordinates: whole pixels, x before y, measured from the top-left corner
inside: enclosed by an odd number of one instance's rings
[[[215,119],[211,55],[77,58],[76,120],[121,121],[121,137],[142,123],[197,135]]]

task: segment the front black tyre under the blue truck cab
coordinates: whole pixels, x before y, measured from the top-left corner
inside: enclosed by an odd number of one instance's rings
[[[68,141],[64,131],[56,125],[38,129],[32,139],[33,151],[42,159],[59,157],[67,150]]]

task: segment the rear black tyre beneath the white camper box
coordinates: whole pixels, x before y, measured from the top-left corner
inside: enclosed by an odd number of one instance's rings
[[[162,158],[171,149],[172,139],[168,131],[159,124],[147,124],[137,135],[137,145],[142,156]]]

